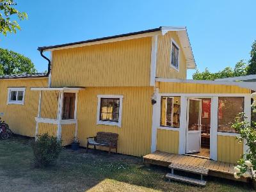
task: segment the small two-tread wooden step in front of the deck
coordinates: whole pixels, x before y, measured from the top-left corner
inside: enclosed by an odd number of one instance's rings
[[[205,186],[206,181],[203,179],[203,175],[208,175],[209,169],[198,167],[198,166],[191,166],[189,164],[179,164],[179,163],[172,163],[169,165],[169,168],[172,169],[172,173],[167,173],[166,178],[172,180],[179,180],[182,182],[187,182],[189,184],[195,184],[198,186]],[[183,177],[180,175],[175,175],[173,170],[179,170],[183,172],[195,173],[201,175],[201,180],[193,179],[189,177]]]

